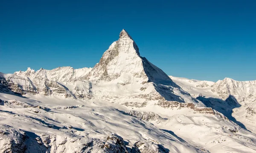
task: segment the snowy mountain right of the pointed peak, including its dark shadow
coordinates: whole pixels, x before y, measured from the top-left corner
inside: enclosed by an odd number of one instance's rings
[[[225,78],[217,82],[170,78],[196,99],[256,132],[256,81]]]

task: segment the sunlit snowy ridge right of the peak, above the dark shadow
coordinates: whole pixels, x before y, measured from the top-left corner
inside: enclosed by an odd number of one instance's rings
[[[238,102],[243,102],[244,99],[256,95],[256,80],[236,81],[231,78],[225,78],[223,80],[218,80],[217,82],[211,82],[173,76],[169,77],[189,93],[192,93],[193,90],[195,90],[195,93],[200,91],[212,91],[212,93],[223,100],[232,95],[236,97]],[[212,96],[212,93],[209,94]],[[207,93],[205,93],[204,96],[208,96]]]

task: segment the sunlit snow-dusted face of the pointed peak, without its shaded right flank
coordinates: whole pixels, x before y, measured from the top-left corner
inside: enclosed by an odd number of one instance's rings
[[[105,51],[99,63],[87,75],[87,79],[111,81],[121,77],[121,75],[131,77],[131,80],[132,78],[137,78],[142,81],[148,81],[143,71],[139,48],[125,30],[122,30],[119,34],[119,40],[113,42],[108,50]],[[125,79],[125,77],[122,79]],[[129,84],[132,83],[130,82],[131,80],[122,81]]]

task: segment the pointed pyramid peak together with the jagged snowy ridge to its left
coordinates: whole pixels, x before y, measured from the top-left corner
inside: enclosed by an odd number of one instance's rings
[[[97,98],[132,107],[144,107],[148,103],[162,107],[176,105],[166,101],[201,105],[160,68],[141,57],[138,46],[124,29],[93,68],[59,67],[38,71],[28,68],[24,72],[1,74],[0,77],[2,92],[22,95]]]

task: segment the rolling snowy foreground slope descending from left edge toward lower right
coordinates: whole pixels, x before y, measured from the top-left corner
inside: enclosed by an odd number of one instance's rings
[[[98,153],[111,149],[109,145],[118,150],[117,144],[108,144],[111,133],[122,136],[129,152],[139,147],[138,142],[145,146],[142,149],[153,153],[201,152],[200,147],[182,142],[149,122],[116,109],[125,109],[122,106],[108,102],[33,95],[27,99],[10,94],[0,94],[0,99],[0,152],[16,146],[27,147],[30,153]]]

